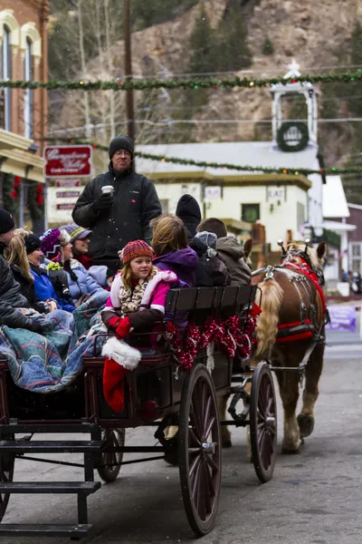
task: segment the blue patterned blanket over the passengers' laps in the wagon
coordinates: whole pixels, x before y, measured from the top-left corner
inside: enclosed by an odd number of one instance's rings
[[[53,393],[71,384],[83,369],[83,357],[100,354],[105,338],[96,334],[104,332],[100,309],[108,296],[106,291],[95,293],[73,315],[63,310],[43,315],[23,309],[45,325],[43,335],[0,327],[0,358],[6,359],[14,383],[36,393]]]

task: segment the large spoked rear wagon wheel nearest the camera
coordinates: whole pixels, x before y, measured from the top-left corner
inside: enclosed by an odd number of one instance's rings
[[[182,497],[191,528],[202,536],[214,526],[221,483],[219,413],[204,364],[196,364],[186,377],[178,422]]]

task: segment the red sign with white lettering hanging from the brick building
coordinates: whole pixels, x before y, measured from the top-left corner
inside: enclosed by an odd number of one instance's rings
[[[44,148],[45,178],[89,178],[92,148],[90,145],[50,145]]]

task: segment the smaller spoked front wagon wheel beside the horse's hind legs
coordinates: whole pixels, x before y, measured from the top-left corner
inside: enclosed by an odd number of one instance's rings
[[[259,480],[271,480],[277,448],[277,402],[271,371],[265,361],[252,374],[250,396],[252,462]]]

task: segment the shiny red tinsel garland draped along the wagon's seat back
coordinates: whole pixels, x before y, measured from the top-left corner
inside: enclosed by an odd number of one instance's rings
[[[165,337],[176,364],[188,370],[194,364],[197,352],[211,344],[227,357],[233,358],[238,353],[245,359],[256,342],[254,333],[255,316],[249,314],[243,322],[240,317],[232,316],[224,321],[220,317],[208,317],[204,325],[190,323],[186,328],[185,340],[176,325],[168,323]]]

